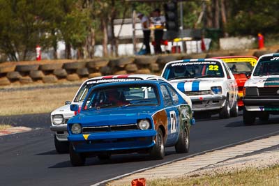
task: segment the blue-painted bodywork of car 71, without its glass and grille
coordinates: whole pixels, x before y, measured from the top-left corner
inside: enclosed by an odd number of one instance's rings
[[[144,105],[144,106],[133,106],[133,107],[107,107],[101,109],[89,109],[81,110],[80,114],[73,116],[68,121],[68,141],[73,144],[74,149],[77,153],[82,152],[103,152],[113,150],[129,150],[129,149],[142,149],[151,148],[154,146],[157,131],[153,123],[153,114],[160,110],[164,110],[163,95],[160,91],[161,84],[168,84],[167,82],[158,81],[140,81],[140,82],[116,82],[107,83],[94,86],[87,93],[85,100],[90,95],[91,91],[96,88],[102,88],[107,86],[122,86],[126,84],[150,84],[156,86],[157,97],[160,98],[158,105]],[[170,85],[170,84],[168,84]],[[186,104],[185,100],[178,94],[179,102],[177,104]],[[86,103],[83,103],[82,108]],[[172,109],[175,110],[175,105],[172,105]],[[179,137],[179,111],[176,109],[176,128],[177,131],[174,133],[168,132],[166,137],[166,146],[173,146]],[[168,127],[170,123],[169,109],[167,109]],[[135,124],[141,119],[148,119],[151,122],[151,128],[149,130],[126,130],[126,131],[114,131],[114,132],[94,132],[85,134],[73,134],[70,131],[73,123],[80,123],[82,127],[96,127],[105,125],[125,125]],[[166,129],[170,130],[170,128]],[[100,142],[100,143],[99,143]]]

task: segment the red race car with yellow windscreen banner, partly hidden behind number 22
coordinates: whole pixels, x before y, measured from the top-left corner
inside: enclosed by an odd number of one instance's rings
[[[249,78],[252,69],[257,63],[257,57],[255,56],[221,56],[214,57],[214,59],[221,59],[229,66],[230,70],[232,70],[232,74],[236,79],[237,85],[239,86],[239,98],[238,98],[238,106],[239,109],[243,107],[243,86],[246,80]]]

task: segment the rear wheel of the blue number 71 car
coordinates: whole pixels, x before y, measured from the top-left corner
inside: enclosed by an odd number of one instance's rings
[[[175,144],[176,153],[188,153],[189,152],[189,130],[188,127],[185,127],[183,132],[179,135],[179,140]]]

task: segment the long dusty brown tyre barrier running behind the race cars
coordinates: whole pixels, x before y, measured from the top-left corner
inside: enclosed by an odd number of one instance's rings
[[[279,52],[279,50],[278,50]],[[246,55],[261,56],[269,50],[236,52],[212,52],[209,54],[163,54],[156,56],[125,56],[118,59],[84,59],[54,61],[22,61],[0,63],[0,86],[73,82],[103,75],[156,74],[160,75],[165,64],[179,59],[204,59],[213,56]]]

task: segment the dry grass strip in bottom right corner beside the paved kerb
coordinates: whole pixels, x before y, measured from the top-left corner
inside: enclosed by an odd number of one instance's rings
[[[246,169],[232,173],[220,173],[213,176],[204,175],[186,178],[147,180],[147,185],[279,185],[279,165],[266,169]]]

